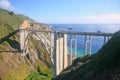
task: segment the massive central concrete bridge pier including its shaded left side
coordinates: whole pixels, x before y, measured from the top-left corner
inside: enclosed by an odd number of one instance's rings
[[[67,35],[54,34],[54,76],[67,67]]]

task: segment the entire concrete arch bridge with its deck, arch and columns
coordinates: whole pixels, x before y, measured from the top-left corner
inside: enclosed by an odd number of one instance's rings
[[[24,31],[25,30],[25,31]],[[43,32],[43,33],[42,33]],[[47,40],[46,36],[43,36],[44,33],[53,33],[50,34],[50,42]],[[24,46],[27,45],[26,43],[26,37],[28,34],[35,34],[39,40],[42,41],[44,46],[46,47],[46,50],[49,50],[48,47],[50,47],[50,58],[51,61],[53,61],[54,65],[54,76],[58,75],[63,69],[65,69],[67,66],[72,65],[72,62],[74,59],[76,59],[77,55],[77,38],[74,36],[74,38],[69,39],[70,43],[70,51],[67,50],[67,35],[83,35],[85,36],[84,39],[84,55],[91,54],[91,48],[92,48],[92,39],[91,36],[103,36],[104,37],[104,44],[111,38],[113,33],[102,33],[100,31],[98,32],[77,32],[77,31],[62,31],[62,30],[34,30],[34,29],[25,29],[20,28],[20,41],[21,41],[21,51],[22,53],[28,53],[27,49],[24,49]],[[54,35],[55,34],[55,35]],[[63,34],[63,37],[60,37],[57,34]],[[52,37],[53,36],[53,37]],[[74,40],[74,43],[73,43]],[[74,52],[72,44],[74,45]],[[69,56],[68,56],[69,52]],[[54,53],[54,54],[53,54]]]

